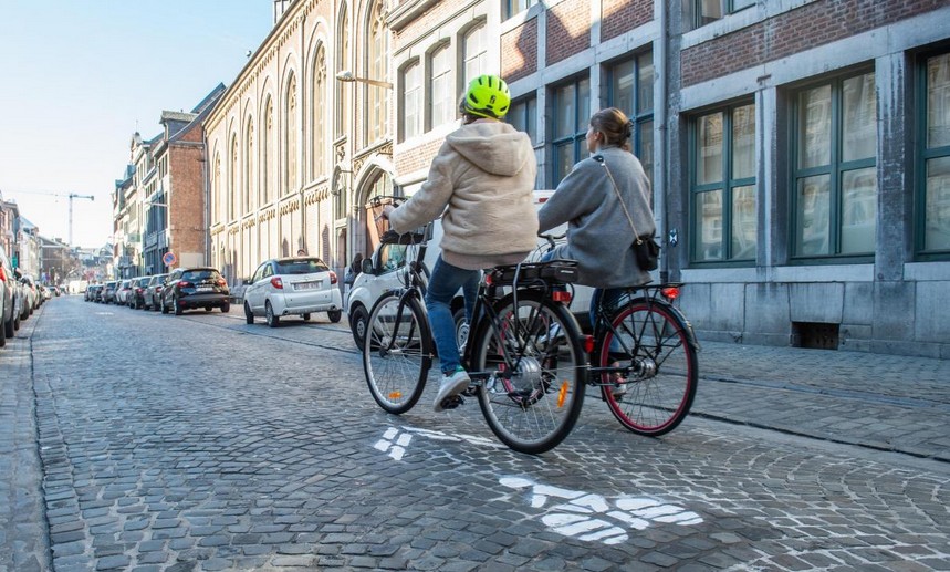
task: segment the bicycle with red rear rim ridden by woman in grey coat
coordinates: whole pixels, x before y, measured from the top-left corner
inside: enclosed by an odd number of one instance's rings
[[[564,235],[540,237],[550,252]],[[588,385],[599,387],[614,417],[638,435],[671,431],[696,397],[700,346],[672,304],[681,288],[681,282],[630,287],[614,305],[601,304],[595,312]]]

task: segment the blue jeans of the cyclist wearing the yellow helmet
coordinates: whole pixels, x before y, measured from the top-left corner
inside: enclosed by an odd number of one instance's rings
[[[442,373],[452,373],[461,365],[458,341],[456,340],[456,321],[452,318],[452,298],[462,289],[466,298],[466,321],[471,323],[474,311],[480,270],[464,270],[453,267],[439,259],[429,277],[429,288],[426,291],[426,310],[429,311],[429,325],[439,351],[439,362]]]

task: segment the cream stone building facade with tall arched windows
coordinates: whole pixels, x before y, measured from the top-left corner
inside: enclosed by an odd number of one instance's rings
[[[274,28],[206,119],[210,261],[231,283],[300,249],[341,270],[373,248],[364,205],[393,193],[393,91],[362,80],[389,83],[384,4],[274,2]]]

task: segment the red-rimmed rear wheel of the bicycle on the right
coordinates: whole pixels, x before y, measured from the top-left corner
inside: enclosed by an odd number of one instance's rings
[[[634,300],[617,310],[594,351],[601,367],[629,367],[626,383],[601,374],[604,399],[627,429],[659,436],[689,414],[699,376],[687,325],[666,302]],[[610,345],[614,344],[614,352]],[[617,347],[622,347],[617,352]],[[625,392],[615,396],[615,392]]]

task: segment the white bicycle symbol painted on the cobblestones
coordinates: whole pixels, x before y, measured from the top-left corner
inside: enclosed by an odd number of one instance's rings
[[[442,431],[413,427],[389,427],[374,445],[395,460],[400,460],[415,436],[429,439],[471,443],[502,448],[490,439],[472,435],[448,435]],[[620,496],[607,498],[583,490],[542,485],[521,477],[502,477],[499,483],[515,490],[528,489],[532,508],[546,508],[541,521],[554,532],[588,542],[619,544],[629,539],[628,530],[644,530],[651,523],[691,526],[702,518],[677,505],[655,497]],[[553,499],[553,500],[552,500]],[[564,500],[566,502],[560,502]],[[546,507],[551,502],[550,507]]]

